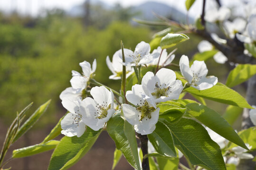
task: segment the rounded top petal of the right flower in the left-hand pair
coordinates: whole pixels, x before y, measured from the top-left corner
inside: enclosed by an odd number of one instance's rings
[[[114,95],[104,86],[95,86],[91,89],[91,95],[93,96],[94,100],[99,103],[100,105],[112,104],[114,102]]]

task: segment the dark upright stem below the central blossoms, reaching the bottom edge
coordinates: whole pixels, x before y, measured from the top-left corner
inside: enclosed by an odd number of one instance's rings
[[[146,154],[148,154],[148,136],[147,135],[141,135],[137,134],[137,136],[140,139],[143,159],[142,159],[142,170],[150,170],[149,168],[149,158],[144,158]]]

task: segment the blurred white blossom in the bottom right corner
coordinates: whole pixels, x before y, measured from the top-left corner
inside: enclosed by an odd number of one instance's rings
[[[249,144],[246,144],[246,146],[247,146],[248,149],[252,148],[252,146],[250,146]],[[247,150],[240,147],[240,146],[233,147],[231,149],[231,151],[233,151],[235,155],[228,159],[227,163],[229,163],[229,164],[238,165],[240,159],[253,159],[254,158],[254,156],[252,154],[246,153]]]

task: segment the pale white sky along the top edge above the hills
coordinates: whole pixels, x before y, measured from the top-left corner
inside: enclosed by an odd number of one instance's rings
[[[85,0],[0,0],[0,10],[9,12],[16,9],[20,14],[29,14],[37,16],[42,8],[62,8],[69,10],[75,5],[82,4]],[[93,0],[91,0],[93,1]],[[101,0],[107,4],[120,3],[124,7],[131,5],[142,4],[149,0]],[[166,3],[172,7],[179,8],[181,11],[186,11],[185,0],[151,0],[156,2]],[[236,1],[236,0],[225,0]],[[224,1],[224,2],[225,2]],[[207,1],[210,5],[210,1]],[[196,0],[195,4],[190,8],[191,16],[198,16],[202,10],[202,0]]]

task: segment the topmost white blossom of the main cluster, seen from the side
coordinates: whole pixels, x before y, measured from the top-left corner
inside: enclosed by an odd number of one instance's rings
[[[129,52],[129,53],[128,53]],[[154,54],[150,54],[150,45],[146,42],[140,42],[135,48],[135,51],[127,51],[128,55],[125,55],[125,62],[123,65],[125,66],[138,66],[142,64],[149,64],[154,59],[158,58],[160,53],[155,52]],[[122,56],[120,56],[121,58]],[[122,59],[122,58],[121,58]]]

